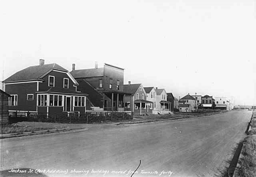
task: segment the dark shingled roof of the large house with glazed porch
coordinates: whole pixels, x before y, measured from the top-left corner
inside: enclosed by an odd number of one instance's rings
[[[11,75],[3,82],[38,80],[42,75],[44,75],[46,72],[50,71],[51,69],[67,71],[65,68],[62,68],[62,66],[56,63],[30,66],[28,68],[25,68],[21,71],[16,72],[14,75]]]

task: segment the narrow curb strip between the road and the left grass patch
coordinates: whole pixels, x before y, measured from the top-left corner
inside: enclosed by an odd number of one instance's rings
[[[78,132],[78,131],[85,131],[88,128],[78,128],[78,129],[52,129],[52,130],[40,130],[32,132],[24,132],[24,133],[9,133],[9,134],[1,134],[0,139],[9,139],[9,138],[21,138],[21,137],[28,137],[28,136],[40,136],[40,135],[49,135],[49,134],[56,134],[56,133],[67,133],[67,132]]]

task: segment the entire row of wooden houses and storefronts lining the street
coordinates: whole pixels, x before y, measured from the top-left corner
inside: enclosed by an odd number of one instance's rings
[[[133,114],[166,114],[172,111],[193,112],[214,108],[212,96],[186,95],[177,99],[164,88],[143,87],[142,83],[124,84],[124,69],[95,63],[92,69],[72,71],[52,63],[30,66],[3,81],[9,95],[9,112],[42,113],[48,116],[65,112],[116,111]],[[217,99],[217,97],[216,97]],[[220,98],[220,101],[223,98]],[[222,107],[217,101],[216,107]],[[226,104],[228,101],[224,101]],[[223,107],[224,108],[224,107]]]

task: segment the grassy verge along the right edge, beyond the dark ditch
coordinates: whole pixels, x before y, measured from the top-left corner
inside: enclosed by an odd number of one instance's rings
[[[255,111],[256,113],[256,111]],[[249,136],[243,143],[241,158],[238,162],[237,175],[241,177],[256,176],[256,114],[251,121]]]

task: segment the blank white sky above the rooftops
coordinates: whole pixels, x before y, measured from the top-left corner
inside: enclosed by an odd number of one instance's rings
[[[0,80],[28,66],[108,63],[175,97],[256,105],[256,1],[0,1]]]

